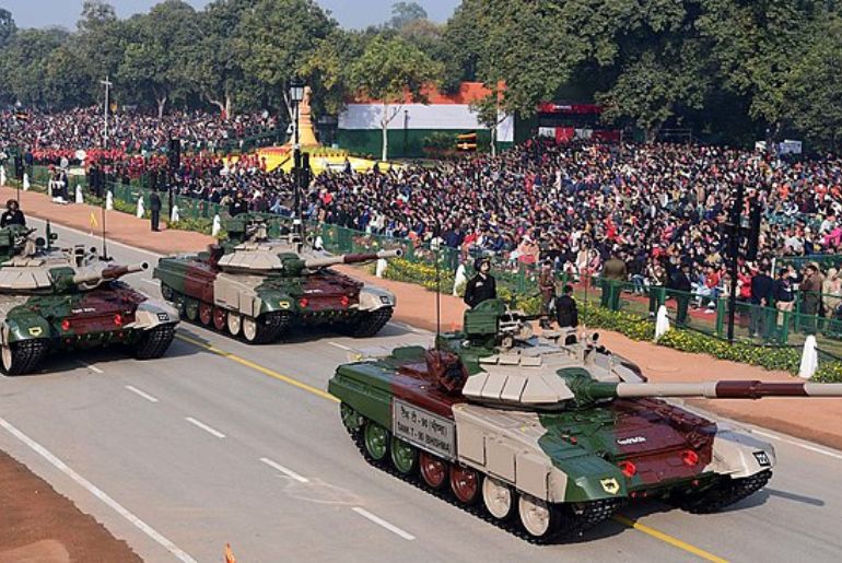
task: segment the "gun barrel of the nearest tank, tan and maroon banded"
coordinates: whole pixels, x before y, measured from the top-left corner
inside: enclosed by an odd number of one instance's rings
[[[761,399],[763,397],[842,397],[842,384],[757,380],[702,383],[584,383],[574,386],[589,399],[641,397],[700,397],[705,399]]]

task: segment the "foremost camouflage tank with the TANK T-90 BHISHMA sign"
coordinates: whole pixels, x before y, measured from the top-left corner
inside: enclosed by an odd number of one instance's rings
[[[765,485],[770,444],[660,398],[842,397],[838,384],[651,384],[595,335],[552,336],[487,301],[437,348],[341,365],[328,389],[370,462],[535,542],[633,500],[711,513]]]

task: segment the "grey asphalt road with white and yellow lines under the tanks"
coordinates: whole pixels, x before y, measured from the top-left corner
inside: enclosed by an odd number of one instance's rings
[[[57,231],[60,243],[95,244]],[[109,251],[156,260],[117,244]],[[160,295],[151,270],[128,281]],[[244,563],[840,560],[842,454],[776,434],[770,485],[726,513],[635,505],[622,521],[551,547],[372,469],[327,379],[349,349],[430,341],[394,322],[376,339],[308,332],[247,347],[183,325],[155,362],[118,351],[54,356],[39,374],[0,377],[0,448],[151,562],[221,561],[225,543]]]

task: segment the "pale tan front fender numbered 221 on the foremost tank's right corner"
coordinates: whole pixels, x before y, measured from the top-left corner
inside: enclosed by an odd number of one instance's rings
[[[750,477],[775,466],[774,446],[751,434],[722,429],[713,438],[713,456],[704,471],[729,474],[734,478]]]

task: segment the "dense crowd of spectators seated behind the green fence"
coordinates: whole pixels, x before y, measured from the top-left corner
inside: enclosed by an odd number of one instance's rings
[[[151,177],[161,186],[166,181],[166,157],[142,152],[173,136],[182,138],[185,148],[176,174],[180,195],[227,204],[242,192],[254,211],[293,212],[291,174],[267,171],[256,156],[233,162],[209,150],[231,134],[232,124],[241,132],[267,126],[259,117],[221,121],[204,114],[175,114],[163,120],[132,115],[115,119],[114,139],[121,154],[89,159],[109,179]],[[4,116],[0,124],[8,121]],[[59,151],[95,151],[91,139],[101,138],[102,120],[94,110],[82,109],[31,115],[19,126],[0,126],[0,138]],[[343,172],[313,177],[303,207],[311,220],[420,243],[436,238],[464,258],[492,256],[503,267],[550,261],[557,271],[576,279],[599,275],[616,255],[625,263],[624,275],[634,291],[647,293],[648,286],[680,282],[689,284],[695,305],[712,308],[732,283],[724,257],[725,223],[737,184],[745,186],[746,215],[753,201],[764,216],[760,259],[739,268],[741,298],[761,298],[752,296],[751,280],[769,271],[773,257],[835,254],[842,245],[842,160],[784,161],[697,144],[558,144],[534,139],[495,157],[478,154],[367,173],[352,171],[349,164]],[[677,280],[682,271],[686,278]],[[835,284],[828,289],[839,294],[839,274],[827,272],[826,278]],[[793,279],[799,281],[803,272]],[[823,283],[819,291],[826,289]]]

